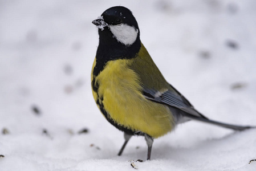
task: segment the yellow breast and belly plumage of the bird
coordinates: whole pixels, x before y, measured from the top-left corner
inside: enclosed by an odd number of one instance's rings
[[[107,62],[95,78],[99,87],[97,92],[93,91],[94,99],[99,100],[109,116],[123,127],[153,138],[165,135],[174,127],[172,113],[165,105],[145,99],[141,79],[129,67],[132,62],[132,59]]]

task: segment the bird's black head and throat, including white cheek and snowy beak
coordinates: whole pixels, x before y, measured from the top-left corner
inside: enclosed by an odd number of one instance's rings
[[[111,7],[94,21],[99,28],[99,46],[94,75],[109,60],[135,58],[140,50],[140,30],[132,12],[123,6]]]

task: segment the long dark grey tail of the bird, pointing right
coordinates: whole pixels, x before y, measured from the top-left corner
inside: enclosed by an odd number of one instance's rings
[[[252,126],[240,126],[240,125],[231,125],[231,124],[220,123],[218,121],[209,120],[209,119],[205,119],[205,118],[197,117],[197,116],[193,116],[193,115],[185,115],[185,116],[189,117],[190,119],[202,121],[204,123],[209,123],[209,124],[214,124],[214,125],[218,125],[221,127],[229,128],[229,129],[234,129],[235,131],[243,131],[245,129],[256,128],[256,127],[252,127]]]

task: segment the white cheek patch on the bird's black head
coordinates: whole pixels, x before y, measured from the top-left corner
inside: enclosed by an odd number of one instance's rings
[[[125,46],[130,46],[135,42],[138,35],[138,29],[126,24],[122,25],[109,25],[110,31],[115,36],[116,40],[120,43],[125,44]]]

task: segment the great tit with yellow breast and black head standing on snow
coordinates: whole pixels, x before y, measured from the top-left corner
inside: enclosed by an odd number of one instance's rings
[[[189,120],[238,131],[252,128],[208,119],[166,82],[141,43],[137,21],[126,7],[111,7],[92,23],[99,28],[92,93],[105,119],[124,132],[119,156],[129,139],[139,135],[145,137],[150,160],[153,139]]]

